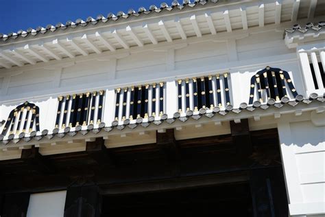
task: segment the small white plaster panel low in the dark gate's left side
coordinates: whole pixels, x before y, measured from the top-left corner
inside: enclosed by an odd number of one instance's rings
[[[58,217],[64,215],[67,191],[31,194],[27,217]]]

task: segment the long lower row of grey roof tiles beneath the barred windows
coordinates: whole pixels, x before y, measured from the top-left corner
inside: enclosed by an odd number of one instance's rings
[[[283,97],[280,102],[276,102],[274,99],[269,99],[266,104],[261,104],[259,101],[253,102],[252,105],[248,105],[247,103],[241,103],[238,109],[234,109],[232,105],[226,106],[225,110],[220,110],[219,107],[215,107],[213,111],[207,111],[206,109],[200,109],[198,112],[193,111],[186,111],[186,115],[181,115],[180,113],[176,112],[173,115],[173,118],[169,118],[166,114],[162,115],[160,119],[151,119],[150,117],[147,119],[138,118],[135,122],[130,122],[129,119],[126,119],[123,124],[119,124],[118,122],[113,122],[111,126],[106,126],[104,122],[100,123],[97,127],[93,124],[88,125],[86,128],[82,126],[76,126],[75,128],[70,128],[69,126],[64,128],[63,132],[55,128],[53,132],[49,132],[49,130],[43,130],[41,133],[36,133],[33,131],[30,134],[21,133],[19,137],[14,137],[14,135],[9,135],[8,139],[4,139],[2,135],[0,135],[0,141],[3,144],[7,145],[11,141],[14,144],[17,144],[19,141],[23,140],[25,142],[28,141],[40,141],[41,139],[53,139],[54,137],[62,138],[65,136],[74,137],[77,134],[86,135],[89,132],[93,132],[95,134],[99,133],[101,130],[105,130],[106,132],[110,132],[115,128],[117,130],[123,130],[124,128],[131,128],[134,129],[136,127],[142,126],[143,128],[147,128],[151,124],[160,125],[163,122],[167,122],[167,124],[173,124],[176,120],[180,122],[186,122],[188,119],[192,118],[198,120],[202,117],[213,118],[214,116],[221,115],[225,116],[229,113],[238,114],[242,111],[250,111],[254,112],[256,109],[281,109],[283,106],[296,106],[298,104],[311,104],[312,102],[325,102],[325,94],[324,95],[317,95],[317,93],[311,93],[309,98],[304,98],[302,95],[297,95],[295,100],[289,100],[287,97]]]

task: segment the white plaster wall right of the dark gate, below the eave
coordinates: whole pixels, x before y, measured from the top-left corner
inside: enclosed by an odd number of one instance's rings
[[[292,216],[325,215],[325,115],[311,121],[278,124],[280,148]]]

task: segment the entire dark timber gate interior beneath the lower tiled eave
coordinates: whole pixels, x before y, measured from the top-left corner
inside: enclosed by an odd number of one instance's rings
[[[288,216],[277,130],[250,131],[247,119],[230,128],[177,141],[170,129],[121,148],[96,139],[60,155],[23,150],[0,161],[0,213],[23,210],[22,192],[67,190],[64,216]]]

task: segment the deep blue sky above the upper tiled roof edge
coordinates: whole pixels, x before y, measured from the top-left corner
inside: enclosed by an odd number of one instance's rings
[[[137,11],[141,6],[149,8],[161,2],[163,0],[0,0],[0,32],[8,34],[39,25],[45,27],[78,18],[86,20],[88,16],[106,16],[109,12],[127,12],[130,8]],[[170,4],[171,0],[166,3]]]

